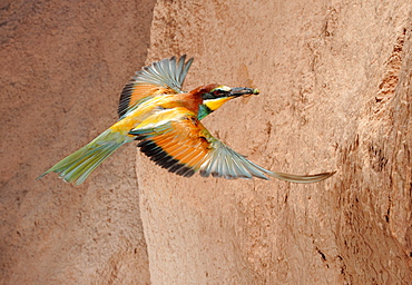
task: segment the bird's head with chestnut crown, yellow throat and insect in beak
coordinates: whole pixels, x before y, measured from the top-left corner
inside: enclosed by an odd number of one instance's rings
[[[197,118],[200,120],[220,108],[225,102],[245,95],[258,95],[258,89],[246,87],[227,87],[224,85],[207,85],[200,89],[203,105],[199,106]]]

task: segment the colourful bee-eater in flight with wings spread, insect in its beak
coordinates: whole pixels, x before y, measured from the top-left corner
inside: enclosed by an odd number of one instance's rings
[[[137,147],[156,165],[184,177],[278,178],[292,183],[317,183],[334,171],[315,175],[290,175],[267,170],[215,138],[200,122],[225,102],[258,95],[248,87],[207,83],[183,91],[193,63],[186,55],[165,58],[136,71],[122,88],[119,119],[89,144],[67,156],[46,173],[57,173],[75,186],[86,178],[116,149],[127,142]]]

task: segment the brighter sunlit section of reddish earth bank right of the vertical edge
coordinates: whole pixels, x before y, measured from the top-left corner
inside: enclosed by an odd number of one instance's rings
[[[138,155],[154,284],[411,284],[411,1],[158,1],[149,61],[187,53],[186,89],[261,95],[205,119],[316,185],[186,179]]]

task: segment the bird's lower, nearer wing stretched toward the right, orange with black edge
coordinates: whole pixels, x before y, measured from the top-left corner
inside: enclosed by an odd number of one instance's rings
[[[158,118],[155,118],[157,116]],[[297,176],[272,173],[214,138],[196,115],[185,108],[163,110],[155,117],[133,129],[130,135],[140,140],[138,147],[151,160],[180,176],[190,177],[199,171],[204,177],[212,175],[227,179],[268,179],[267,176],[272,176],[294,183],[315,183],[333,175],[324,173]]]

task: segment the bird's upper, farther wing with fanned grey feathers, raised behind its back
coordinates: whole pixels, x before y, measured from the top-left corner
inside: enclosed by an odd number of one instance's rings
[[[180,94],[183,82],[193,62],[186,55],[177,61],[176,57],[165,58],[144,67],[131,77],[120,95],[118,115],[124,117],[141,101],[164,94]]]

